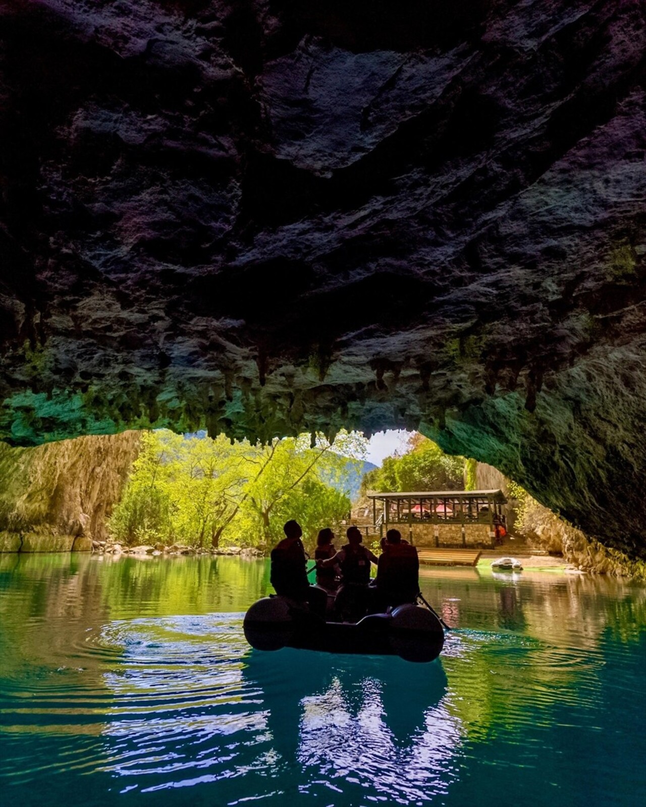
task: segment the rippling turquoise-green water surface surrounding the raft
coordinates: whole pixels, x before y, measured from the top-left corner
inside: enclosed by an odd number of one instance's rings
[[[15,805],[646,804],[646,588],[426,572],[431,664],[250,650],[266,562],[0,558]]]

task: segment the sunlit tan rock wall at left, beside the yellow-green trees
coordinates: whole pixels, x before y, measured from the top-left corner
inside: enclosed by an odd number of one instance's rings
[[[140,433],[35,448],[0,442],[0,552],[91,550],[139,453]]]

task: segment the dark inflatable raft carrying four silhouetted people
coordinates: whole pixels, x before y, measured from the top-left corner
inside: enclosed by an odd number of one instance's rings
[[[326,653],[398,655],[430,662],[444,646],[443,627],[420,605],[405,604],[356,623],[324,621],[283,596],[263,597],[245,614],[245,638],[256,650],[322,650]]]

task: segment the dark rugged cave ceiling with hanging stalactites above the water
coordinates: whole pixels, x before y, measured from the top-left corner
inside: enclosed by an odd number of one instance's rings
[[[421,429],[644,551],[643,0],[0,14],[0,439]]]

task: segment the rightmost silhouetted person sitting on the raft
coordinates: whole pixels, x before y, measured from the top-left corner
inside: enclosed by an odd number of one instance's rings
[[[376,603],[380,610],[414,603],[419,592],[419,558],[414,546],[402,541],[398,529],[386,533],[386,545],[377,565]],[[375,608],[373,608],[374,610]]]

